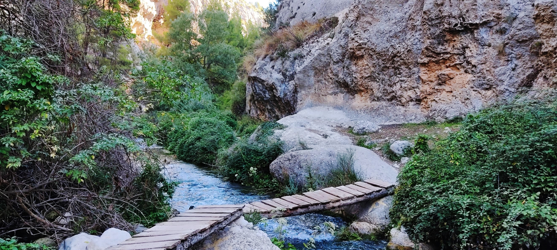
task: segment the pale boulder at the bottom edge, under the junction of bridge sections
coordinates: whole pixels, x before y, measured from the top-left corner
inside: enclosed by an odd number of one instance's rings
[[[240,217],[214,232],[193,250],[280,250],[267,234]]]

